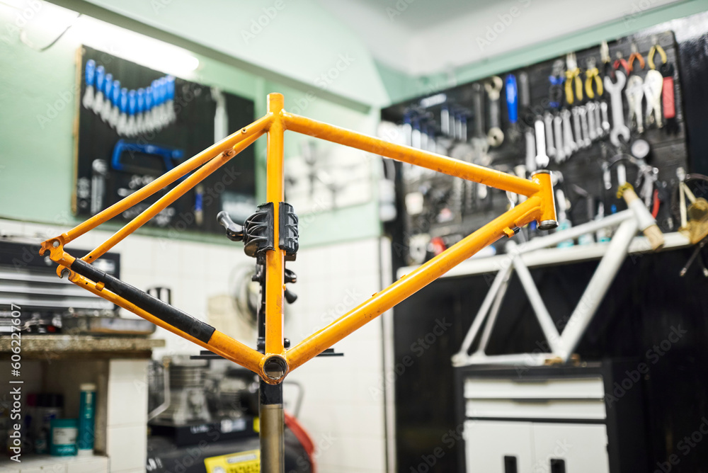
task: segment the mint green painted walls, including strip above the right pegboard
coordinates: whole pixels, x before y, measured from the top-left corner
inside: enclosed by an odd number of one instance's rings
[[[638,13],[541,45],[469,64],[457,69],[455,79],[458,83],[473,81],[564,55],[571,50],[597,45],[603,39],[628,35],[707,8],[708,2],[705,0],[687,0]],[[0,217],[48,224],[74,224],[77,221],[71,215],[70,195],[76,108],[74,58],[79,43],[62,38],[49,50],[35,52],[19,41],[18,30],[6,27],[13,21],[13,12],[0,8]],[[361,104],[348,106],[346,101],[331,100],[332,92],[319,89],[314,81],[312,87],[307,83],[294,86],[287,81],[263,79],[253,72],[210,57],[198,57],[200,69],[187,79],[251,98],[256,102],[257,115],[265,113],[266,94],[278,91],[285,94],[286,108],[299,106],[301,113],[312,118],[353,130],[375,132],[377,108],[365,108]],[[390,103],[450,86],[450,77],[443,74],[411,77],[378,62],[375,62],[375,70]],[[308,98],[312,96],[315,98]],[[303,103],[307,106],[303,107]],[[299,153],[299,139],[290,133],[286,135],[286,159]],[[263,183],[265,139],[256,142],[256,156],[257,179]],[[379,171],[376,161],[373,168],[375,173]],[[309,217],[301,215],[308,222],[302,234],[303,246],[378,235],[380,224],[375,194],[374,178],[372,200],[368,203]],[[259,200],[264,200],[264,196],[265,188],[261,185],[258,187]],[[164,234],[149,228],[140,232]],[[184,238],[227,243],[219,236],[189,232],[184,232]]]

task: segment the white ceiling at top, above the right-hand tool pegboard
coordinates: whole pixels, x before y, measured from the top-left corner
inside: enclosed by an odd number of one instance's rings
[[[677,0],[319,0],[373,57],[413,76],[633,18]],[[646,4],[646,5],[645,5]],[[496,33],[495,31],[496,30]],[[598,40],[599,41],[599,40]]]

